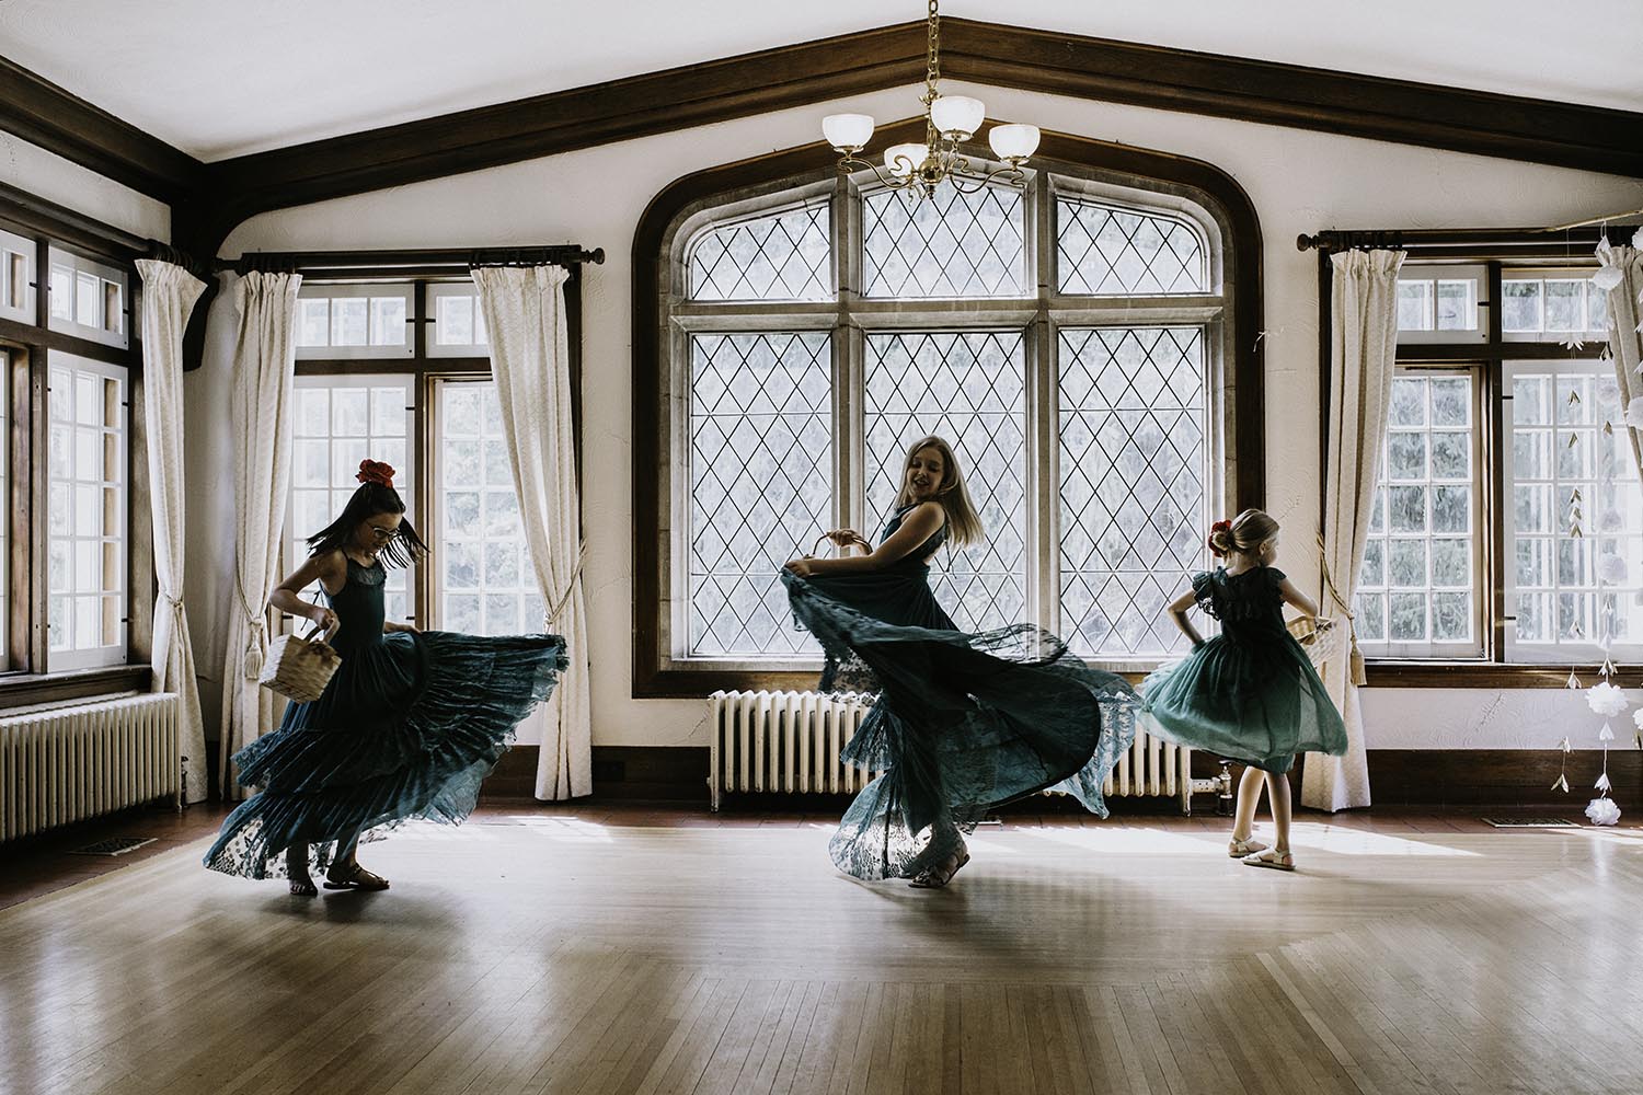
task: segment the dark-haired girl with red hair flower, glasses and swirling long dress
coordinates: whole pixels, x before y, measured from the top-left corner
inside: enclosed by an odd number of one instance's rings
[[[384,568],[427,555],[393,474],[361,461],[360,488],[268,598],[314,621],[342,663],[319,699],[292,703],[276,732],[233,755],[240,785],[261,791],[223,821],[205,854],[214,870],[284,875],[291,893],[312,896],[314,865],[327,890],[386,890],[360,867],[360,841],[409,818],[467,818],[514,727],[565,668],[559,635],[424,634],[384,617]],[[325,604],[299,596],[315,581]]]

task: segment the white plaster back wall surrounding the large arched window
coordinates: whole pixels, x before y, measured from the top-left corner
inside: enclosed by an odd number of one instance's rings
[[[955,85],[950,90],[958,90]],[[1319,228],[1490,227],[1579,220],[1643,205],[1643,184],[1579,171],[1512,164],[1378,141],[1301,133],[1132,107],[997,89],[969,89],[994,118],[1194,156],[1234,176],[1254,199],[1265,236],[1267,504],[1293,529],[1316,527],[1318,302],[1316,256],[1295,236]],[[583,409],[585,522],[593,663],[595,742],[705,744],[703,701],[631,699],[631,387],[629,253],[639,215],[674,179],[813,140],[823,113],[864,108],[882,120],[915,115],[915,90],[729,121],[396,187],[256,217],[225,243],[246,250],[481,246],[582,243],[603,246],[605,266],[585,271]],[[222,667],[220,635],[232,598],[230,512],[222,407],[233,317],[219,300],[212,355],[187,378],[189,602],[202,675]],[[1316,584],[1298,545],[1283,565]],[[435,545],[437,547],[437,545]],[[1311,578],[1308,578],[1311,575]],[[1375,691],[1365,701],[1370,747],[1546,745],[1569,712],[1559,691]],[[207,701],[207,711],[214,704]]]

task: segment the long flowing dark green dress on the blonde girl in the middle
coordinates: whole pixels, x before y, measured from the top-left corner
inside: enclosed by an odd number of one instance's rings
[[[912,511],[895,512],[881,542]],[[1135,737],[1139,701],[1030,624],[955,627],[930,591],[943,525],[897,563],[859,575],[782,571],[794,617],[828,655],[822,690],[877,691],[843,752],[872,780],[828,844],[858,878],[940,865],[987,811],[1048,788],[1106,818],[1101,785]]]

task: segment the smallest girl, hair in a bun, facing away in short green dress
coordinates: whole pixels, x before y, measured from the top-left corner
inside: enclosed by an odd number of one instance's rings
[[[1346,726],[1311,658],[1283,625],[1283,606],[1318,616],[1318,606],[1272,563],[1278,522],[1259,509],[1221,520],[1209,550],[1226,566],[1193,575],[1193,588],[1170,604],[1193,652],[1142,683],[1147,722],[1158,737],[1245,762],[1227,852],[1250,867],[1295,870],[1290,854],[1290,780],[1295,754],[1346,752]],[[1198,606],[1221,621],[1204,639],[1186,619]],[[1272,849],[1252,841],[1265,783],[1277,832]]]

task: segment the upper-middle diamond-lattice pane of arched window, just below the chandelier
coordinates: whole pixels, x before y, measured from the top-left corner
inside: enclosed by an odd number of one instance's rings
[[[1027,292],[1027,205],[1022,192],[989,186],[935,197],[877,190],[863,197],[869,297],[1019,297]]]

